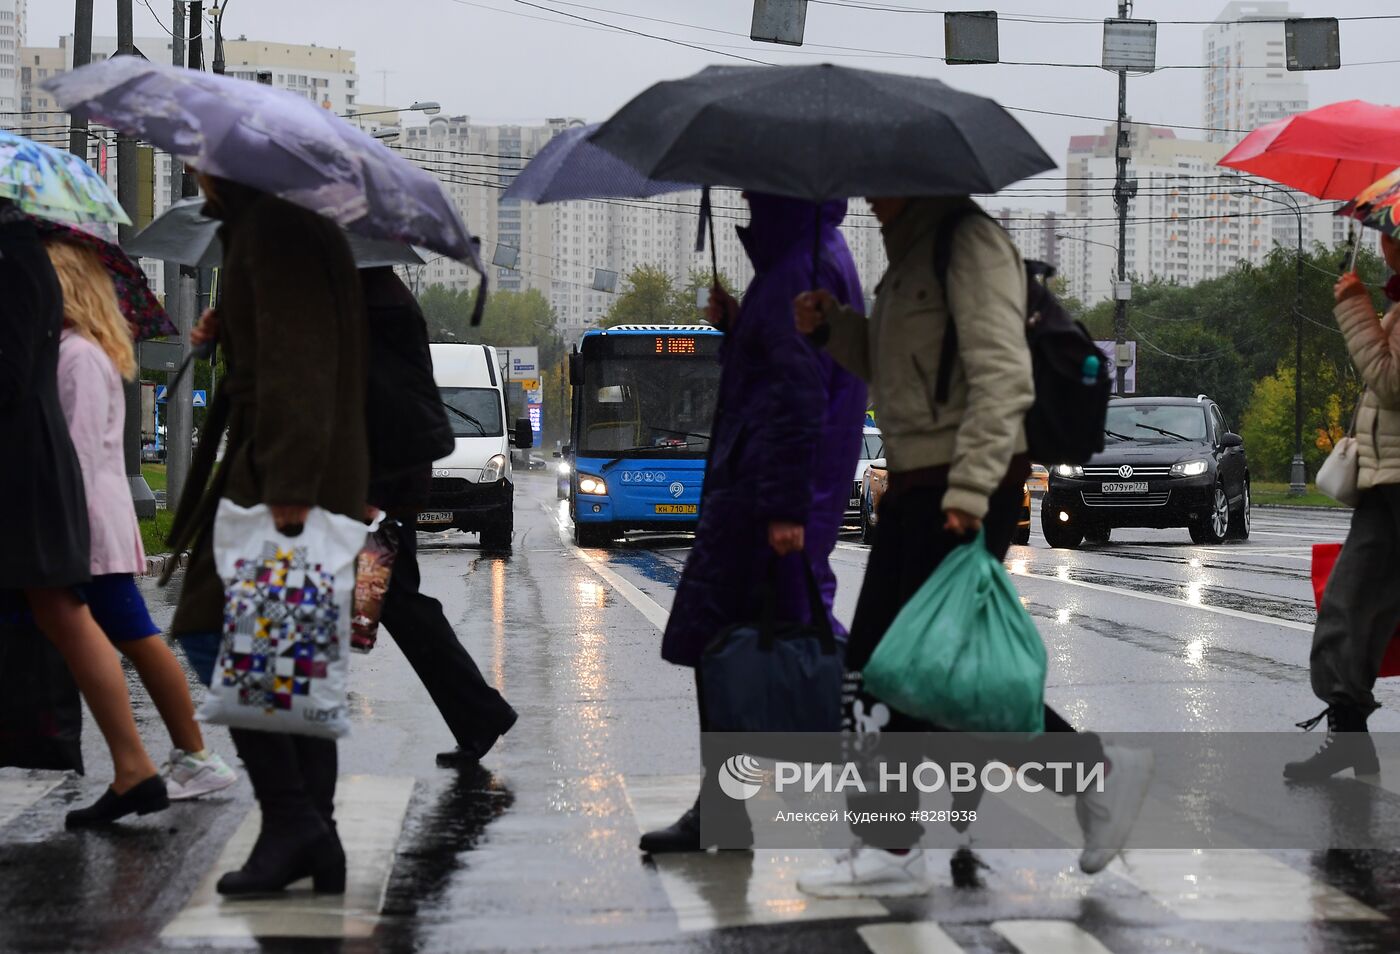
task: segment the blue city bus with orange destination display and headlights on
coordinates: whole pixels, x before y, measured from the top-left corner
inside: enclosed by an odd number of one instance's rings
[[[584,332],[568,361],[568,509],[580,546],[629,530],[696,528],[722,340],[708,325]]]

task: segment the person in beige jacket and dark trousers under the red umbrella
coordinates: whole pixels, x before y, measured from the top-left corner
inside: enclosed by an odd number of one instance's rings
[[[1400,273],[1400,242],[1383,235],[1386,263]],[[1400,297],[1392,279],[1386,293]],[[1312,646],[1312,688],[1327,709],[1327,738],[1308,759],[1289,762],[1295,780],[1326,779],[1352,769],[1380,770],[1366,734],[1375,712],[1372,688],[1396,626],[1400,625],[1400,304],[1378,321],[1371,293],[1354,273],[1336,287],[1334,315],[1365,391],[1357,408],[1361,500],[1317,611]]]

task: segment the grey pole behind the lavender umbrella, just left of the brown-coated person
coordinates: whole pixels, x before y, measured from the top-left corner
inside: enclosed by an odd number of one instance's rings
[[[171,4],[171,64],[185,66],[185,0]],[[190,28],[190,32],[199,27]],[[193,182],[190,184],[193,185]],[[185,164],[171,155],[171,205],[185,198]],[[189,357],[189,333],[195,326],[193,269],[175,262],[165,263],[165,310],[175,322],[181,339],[181,361]],[[181,493],[189,476],[190,443],[195,427],[195,375],[185,374],[167,391],[165,440],[165,509],[179,507]]]

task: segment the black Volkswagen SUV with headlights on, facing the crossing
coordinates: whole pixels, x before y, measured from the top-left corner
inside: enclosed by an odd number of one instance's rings
[[[1249,538],[1245,441],[1204,394],[1109,402],[1103,452],[1050,466],[1050,546],[1106,542],[1114,527],[1187,527],[1197,544]]]

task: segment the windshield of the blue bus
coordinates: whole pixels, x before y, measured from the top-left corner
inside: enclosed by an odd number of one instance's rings
[[[585,356],[575,452],[701,458],[718,395],[720,364],[707,356]]]

